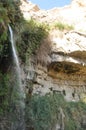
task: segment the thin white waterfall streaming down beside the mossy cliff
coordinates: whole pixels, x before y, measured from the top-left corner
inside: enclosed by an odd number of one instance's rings
[[[13,68],[14,68],[13,71],[14,81],[13,81],[13,91],[11,99],[12,100],[11,130],[25,130],[25,123],[24,123],[25,93],[21,82],[21,71],[14,44],[13,31],[10,26],[9,26],[9,32],[10,32],[10,42],[12,47]]]

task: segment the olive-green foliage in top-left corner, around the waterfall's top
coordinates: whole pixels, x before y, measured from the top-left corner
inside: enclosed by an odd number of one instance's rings
[[[16,32],[19,32],[20,26],[23,22],[19,5],[20,0],[0,1],[0,57],[4,55],[3,48],[6,42],[9,40],[8,24],[10,24]]]

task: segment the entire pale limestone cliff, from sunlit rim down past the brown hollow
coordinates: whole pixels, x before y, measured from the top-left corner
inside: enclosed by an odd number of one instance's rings
[[[73,26],[71,30],[52,27],[49,34],[50,45],[46,47],[45,40],[38,54],[31,57],[29,66],[26,67],[27,91],[31,86],[29,84],[32,84],[32,94],[57,92],[62,93],[67,101],[86,99],[85,0],[73,0],[68,6],[47,11],[23,1],[20,8],[25,18],[27,15],[27,18],[33,17],[50,26],[58,22],[64,28],[65,24]],[[50,51],[44,51],[43,48],[49,48]]]

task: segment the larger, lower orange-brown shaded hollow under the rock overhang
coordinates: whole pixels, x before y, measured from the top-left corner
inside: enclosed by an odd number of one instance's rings
[[[84,66],[82,68],[82,65],[74,64],[71,62],[52,62],[48,66],[48,74],[53,76],[53,73],[56,77],[58,77],[59,74],[63,75],[86,75],[86,67]]]

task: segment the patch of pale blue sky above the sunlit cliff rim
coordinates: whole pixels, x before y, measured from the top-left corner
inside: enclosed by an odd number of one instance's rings
[[[51,9],[54,7],[62,7],[68,5],[72,0],[30,0],[32,3],[37,4],[41,9]]]

